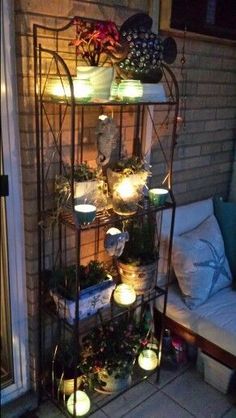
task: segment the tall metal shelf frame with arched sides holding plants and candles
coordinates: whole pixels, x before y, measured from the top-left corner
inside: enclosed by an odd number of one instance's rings
[[[91,19],[87,19],[88,21]],[[56,265],[63,265],[67,258],[69,259],[69,252],[71,248],[67,248],[68,242],[73,236],[75,252],[76,252],[76,287],[80,288],[80,277],[78,273],[78,266],[81,263],[80,247],[81,237],[85,231],[94,230],[95,252],[99,251],[99,240],[101,239],[100,231],[106,229],[109,225],[118,224],[124,221],[124,217],[117,215],[111,208],[105,208],[98,211],[95,220],[86,227],[78,228],[75,226],[73,217],[73,205],[66,207],[61,211],[54,223],[50,221],[52,214],[55,211],[55,193],[54,180],[56,175],[66,173],[67,164],[71,167],[71,201],[74,201],[74,165],[75,163],[84,162],[86,160],[86,150],[83,138],[86,132],[86,120],[89,112],[101,112],[104,109],[109,112],[115,112],[117,123],[119,125],[119,151],[117,158],[122,156],[122,146],[124,138],[125,114],[129,112],[132,114],[134,135],[132,138],[132,155],[142,157],[142,149],[144,145],[144,125],[147,116],[151,116],[151,107],[155,110],[165,112],[169,120],[170,133],[168,142],[162,142],[156,128],[155,118],[151,117],[153,135],[155,136],[155,144],[159,147],[160,155],[162,156],[163,173],[162,180],[169,190],[170,201],[165,205],[156,208],[150,205],[147,198],[140,204],[140,208],[136,214],[125,218],[127,219],[143,219],[145,216],[155,218],[159,214],[159,221],[156,222],[156,235],[160,237],[162,229],[162,214],[165,210],[172,211],[171,225],[169,230],[168,241],[168,255],[167,255],[167,283],[164,287],[156,286],[155,289],[145,297],[142,297],[135,309],[142,309],[145,303],[154,303],[157,297],[163,297],[163,321],[159,334],[159,359],[161,360],[162,352],[162,338],[164,331],[164,319],[167,305],[168,285],[170,280],[170,261],[172,251],[172,239],[175,218],[175,198],[172,191],[173,186],[173,157],[174,148],[177,138],[177,117],[179,112],[179,89],[178,83],[174,73],[169,66],[164,63],[161,64],[163,71],[163,79],[166,89],[168,91],[168,100],[166,102],[117,102],[117,101],[96,101],[81,103],[76,100],[74,95],[73,79],[75,68],[77,65],[77,57],[75,52],[66,54],[61,50],[60,42],[65,42],[70,39],[71,31],[74,28],[74,19],[71,19],[68,24],[62,28],[49,28],[42,25],[35,24],[33,27],[33,42],[34,42],[34,80],[35,80],[35,124],[36,124],[36,151],[37,151],[37,202],[38,202],[38,271],[39,271],[39,401],[43,396],[52,396],[52,400],[58,404],[58,400],[53,396],[53,391],[47,390],[47,376],[50,371],[45,370],[46,367],[46,349],[45,341],[48,336],[46,328],[48,321],[51,329],[52,338],[55,338],[54,328],[59,327],[60,334],[68,331],[72,332],[76,344],[79,346],[80,333],[84,330],[84,325],[78,319],[79,299],[76,299],[75,306],[75,324],[69,326],[66,321],[59,319],[54,310],[48,307],[45,302],[44,288],[42,285],[42,277],[48,268],[55,268]],[[49,47],[53,44],[53,48]],[[65,57],[66,56],[66,57]],[[74,69],[72,68],[74,63]],[[66,78],[70,89],[70,97],[60,98],[58,100],[48,98],[45,95],[45,82],[51,75],[57,75],[60,79]],[[171,116],[170,116],[171,115]],[[164,124],[161,125],[163,128]],[[160,126],[159,126],[160,127]],[[94,143],[93,143],[94,146]],[[167,149],[167,150],[166,150]],[[49,219],[49,228],[45,227],[45,221]],[[159,238],[158,238],[159,239]],[[160,242],[158,241],[159,245]],[[74,249],[72,250],[74,251]],[[98,254],[95,254],[97,256]],[[158,260],[157,260],[158,263]],[[111,305],[112,308],[112,305]],[[125,315],[127,312],[119,312],[117,316]],[[45,319],[47,316],[47,319]],[[111,315],[112,320],[114,315]],[[85,321],[86,322],[86,321]],[[88,326],[89,328],[89,326]],[[86,329],[86,327],[85,327]],[[63,332],[62,332],[63,330]],[[83,331],[84,332],[84,331]],[[54,342],[53,342],[54,343]],[[76,359],[75,359],[76,364]],[[157,370],[157,379],[159,378],[160,367]],[[50,380],[50,379],[49,379]],[[75,379],[76,380],[76,379]],[[76,382],[74,382],[76,383]],[[136,383],[135,383],[136,384]],[[74,385],[75,387],[76,385]],[[51,395],[50,395],[51,394]],[[120,393],[117,395],[119,396]],[[112,397],[114,399],[114,397]],[[106,402],[109,402],[107,399]],[[104,403],[103,403],[104,405]],[[68,415],[64,403],[59,401],[59,407],[63,410],[65,415]],[[92,411],[93,412],[93,411]],[[75,416],[75,415],[74,415]]]

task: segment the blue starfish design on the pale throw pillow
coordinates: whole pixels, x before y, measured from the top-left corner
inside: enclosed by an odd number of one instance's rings
[[[223,276],[227,277],[227,279],[229,281],[231,281],[231,277],[230,277],[228,271],[225,268],[225,254],[219,255],[217,253],[214,245],[211,242],[209,242],[205,239],[200,239],[200,241],[204,242],[209,247],[209,249],[211,251],[211,254],[212,254],[212,259],[203,261],[201,263],[193,263],[193,264],[196,267],[199,267],[199,266],[210,267],[214,270],[214,274],[213,274],[213,277],[212,277],[212,283],[211,283],[211,287],[210,287],[210,290],[209,290],[209,296],[210,296],[211,292],[212,292],[212,290],[213,290],[213,288],[214,288],[214,286],[215,286],[216,282],[218,281],[221,274]]]

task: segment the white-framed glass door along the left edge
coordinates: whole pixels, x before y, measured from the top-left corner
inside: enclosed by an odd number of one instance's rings
[[[0,197],[1,404],[5,404],[29,389],[29,356],[14,2],[2,0],[0,7],[0,174],[9,178],[9,196]]]

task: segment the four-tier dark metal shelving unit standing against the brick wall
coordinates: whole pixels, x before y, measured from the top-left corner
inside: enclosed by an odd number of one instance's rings
[[[38,186],[38,250],[39,250],[39,389],[40,399],[50,397],[64,412],[71,416],[66,409],[66,397],[60,395],[56,383],[52,378],[52,362],[55,346],[68,333],[75,336],[80,342],[81,335],[89,332],[92,327],[99,325],[100,316],[96,314],[88,319],[79,320],[75,317],[74,324],[59,318],[47,289],[45,277],[48,270],[57,266],[67,265],[73,261],[77,266],[81,263],[82,238],[85,233],[93,234],[93,255],[99,259],[100,242],[104,231],[109,226],[118,225],[124,217],[117,215],[111,206],[97,211],[95,220],[88,226],[78,227],[74,222],[73,205],[67,205],[57,213],[55,204],[54,183],[57,175],[64,174],[65,167],[72,167],[71,174],[71,202],[74,199],[74,164],[94,158],[96,155],[96,139],[94,134],[94,121],[101,112],[112,113],[119,129],[119,151],[117,158],[122,154],[127,135],[129,136],[130,155],[142,154],[145,142],[145,123],[149,117],[153,131],[153,147],[158,151],[157,173],[159,184],[164,184],[169,190],[169,200],[160,207],[150,204],[147,197],[140,203],[137,213],[126,216],[127,219],[143,219],[151,216],[156,223],[156,236],[161,236],[162,214],[165,210],[172,211],[172,222],[169,230],[168,255],[166,265],[166,284],[155,286],[151,291],[137,298],[132,308],[118,309],[111,301],[110,307],[102,312],[104,321],[113,321],[118,317],[128,317],[132,312],[140,312],[158,297],[163,297],[163,315],[161,326],[158,329],[159,360],[161,361],[162,337],[164,317],[168,296],[168,282],[170,275],[170,259],[172,236],[174,227],[175,199],[172,192],[173,155],[176,144],[177,116],[179,106],[179,92],[176,78],[171,69],[161,64],[163,82],[168,92],[166,102],[137,102],[124,103],[121,101],[99,101],[81,103],[76,100],[73,90],[72,76],[75,75],[77,59],[74,52],[65,52],[65,43],[68,44],[74,31],[73,20],[63,28],[47,28],[34,25],[34,69],[35,69],[35,114],[36,114],[36,148],[37,148],[37,186]],[[70,88],[70,97],[51,99],[45,94],[45,85],[51,76],[59,79],[66,78]],[[161,114],[161,120],[159,117]],[[130,124],[125,121],[130,118]],[[130,131],[132,132],[130,134]],[[161,134],[164,140],[161,139]],[[86,139],[87,138],[87,139]],[[86,142],[87,141],[87,142]],[[156,221],[157,219],[157,221]],[[157,245],[161,243],[157,240]],[[114,260],[110,260],[114,264]],[[77,272],[76,285],[79,289],[80,278]],[[78,313],[79,301],[76,301],[75,311]],[[160,367],[157,369],[159,378]],[[133,384],[147,376],[147,373],[135,373]],[[75,379],[74,379],[75,380]],[[76,388],[76,382],[74,382]],[[119,396],[119,392],[115,396]],[[99,409],[104,403],[110,402],[114,396],[92,394],[91,413]],[[75,413],[75,411],[74,411]],[[75,415],[74,415],[75,416]]]

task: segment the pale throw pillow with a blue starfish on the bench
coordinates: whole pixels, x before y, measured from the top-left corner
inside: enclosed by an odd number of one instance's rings
[[[224,242],[214,215],[197,228],[174,238],[172,264],[190,309],[231,284]]]

